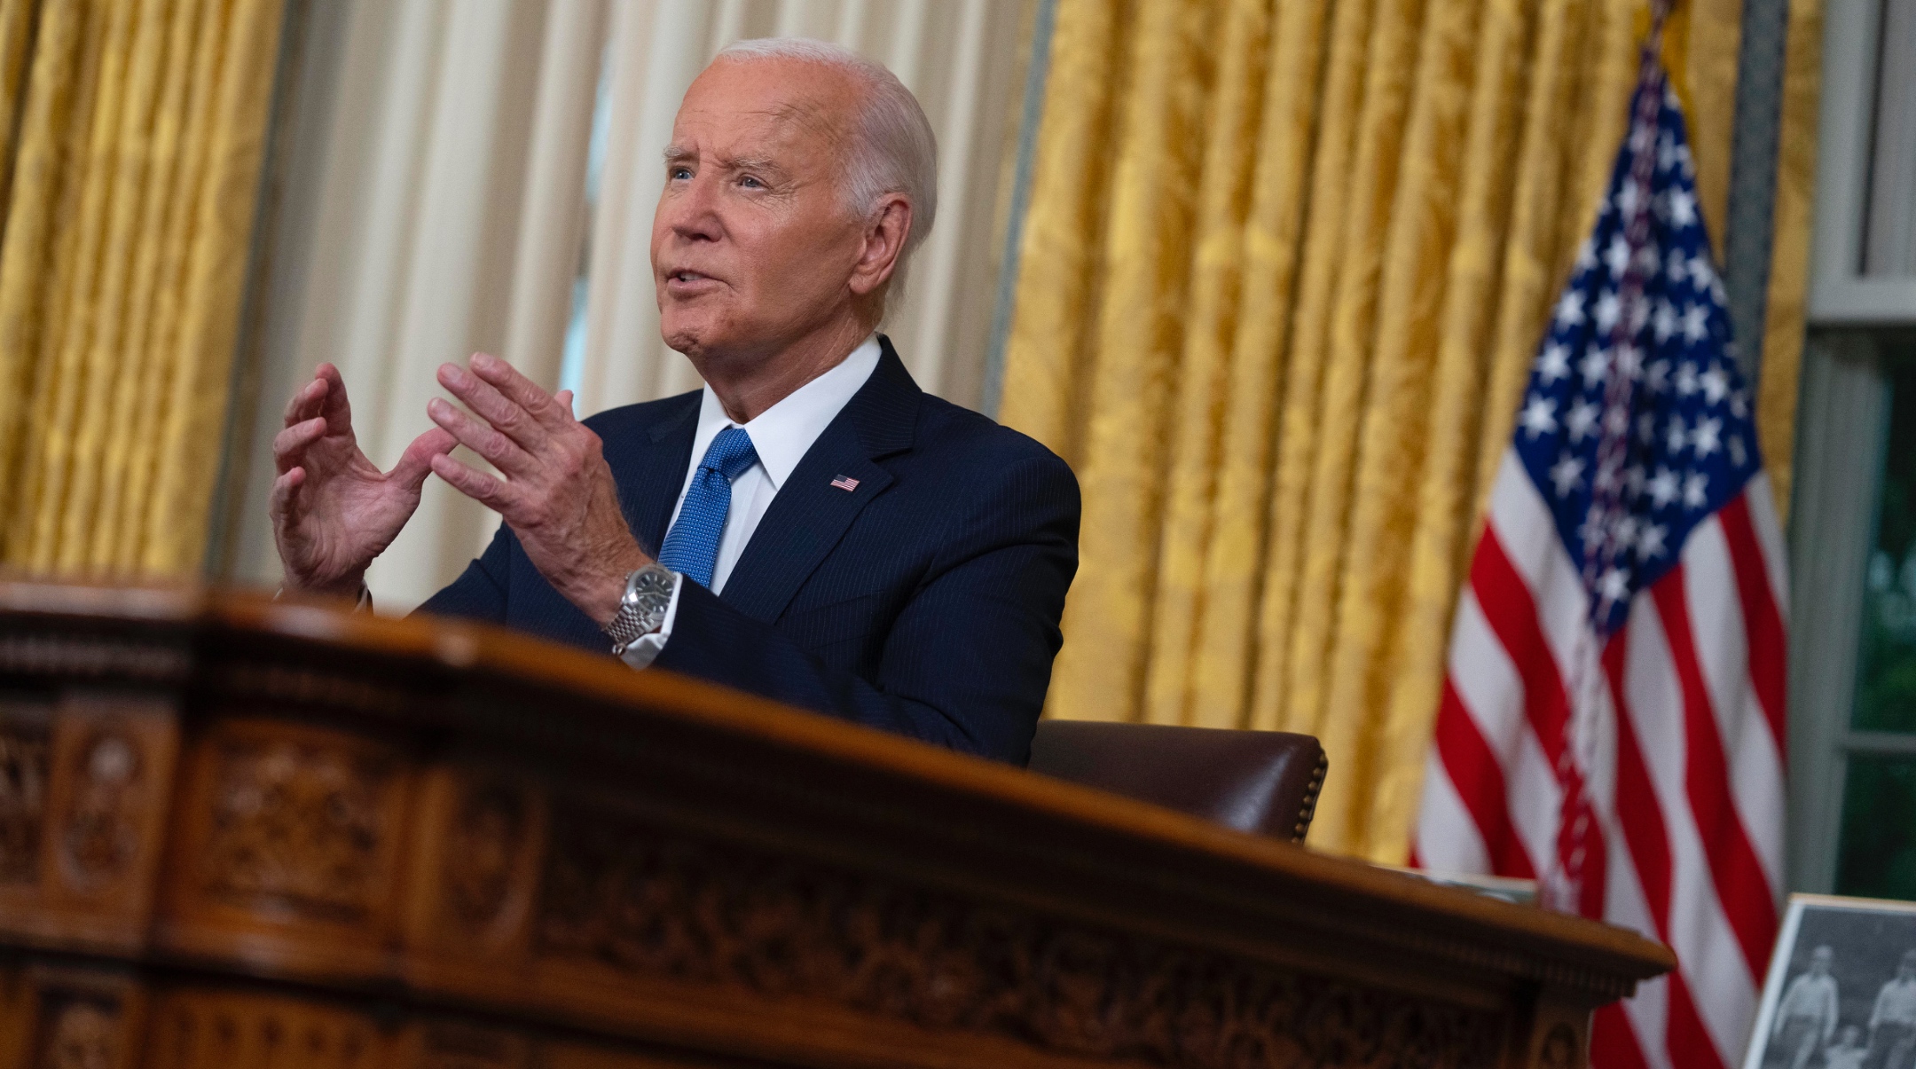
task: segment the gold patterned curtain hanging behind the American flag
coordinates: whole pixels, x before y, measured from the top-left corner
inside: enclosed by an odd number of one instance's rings
[[[1682,0],[1665,31],[1719,251],[1740,13]],[[1404,856],[1479,510],[1646,29],[1648,0],[1060,0],[1000,412],[1084,490],[1050,715],[1316,734],[1312,841]],[[1782,500],[1799,268],[1768,305]]]

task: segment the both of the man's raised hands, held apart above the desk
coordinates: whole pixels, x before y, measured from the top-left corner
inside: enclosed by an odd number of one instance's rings
[[[425,475],[500,513],[546,582],[596,623],[619,609],[625,577],[651,557],[619,510],[604,443],[573,418],[571,391],[548,395],[512,364],[475,353],[469,368],[439,366],[439,385],[466,404],[425,404],[437,423],[391,471],[358,448],[345,379],[322,364],[285,404],[272,443],[272,529],[287,590],[353,596],[366,567],[420,508]],[[500,475],[454,460],[454,446]]]

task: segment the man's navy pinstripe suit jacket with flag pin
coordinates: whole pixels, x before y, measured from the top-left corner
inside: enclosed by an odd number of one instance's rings
[[[920,391],[879,341],[878,370],[780,487],[724,594],[684,582],[653,665],[1021,764],[1077,571],[1077,479],[1042,444]],[[688,393],[586,420],[648,552],[697,412]],[[833,487],[841,475],[858,487]],[[510,527],[422,611],[609,655]]]

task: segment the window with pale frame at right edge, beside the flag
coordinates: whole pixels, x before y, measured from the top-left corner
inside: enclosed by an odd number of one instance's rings
[[[1916,898],[1916,0],[1830,0],[1790,519],[1790,887]]]

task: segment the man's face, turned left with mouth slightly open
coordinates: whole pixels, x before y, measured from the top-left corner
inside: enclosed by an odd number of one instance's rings
[[[849,308],[864,226],[841,174],[856,107],[853,79],[820,63],[722,59],[692,82],[651,220],[669,347],[749,360]]]

